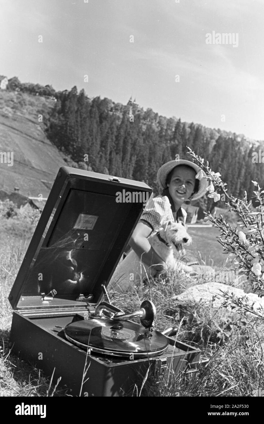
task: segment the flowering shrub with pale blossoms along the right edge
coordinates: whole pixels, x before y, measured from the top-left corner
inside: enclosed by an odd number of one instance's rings
[[[256,212],[252,212],[252,201],[247,200],[247,193],[244,198],[237,199],[228,194],[226,184],[221,180],[219,172],[214,173],[208,162],[205,164],[204,159],[196,156],[195,153],[188,148],[192,160],[206,174],[203,176],[201,171],[196,175],[197,179],[207,178],[209,192],[208,197],[214,198],[214,201],[220,200],[223,195],[227,199],[225,205],[228,206],[230,212],[235,212],[239,216],[239,222],[235,227],[226,222],[223,215],[216,218],[215,213],[206,213],[206,218],[210,220],[220,230],[221,236],[219,243],[223,246],[225,254],[234,261],[238,266],[240,274],[244,274],[248,281],[248,290],[258,293],[258,296],[264,296],[264,190],[258,185],[257,181],[252,181],[256,190],[254,195],[258,206]],[[236,298],[224,294],[225,302],[223,306],[231,306],[237,312],[251,312],[259,318],[264,319],[262,310],[253,312],[252,305],[248,304],[247,298]]]

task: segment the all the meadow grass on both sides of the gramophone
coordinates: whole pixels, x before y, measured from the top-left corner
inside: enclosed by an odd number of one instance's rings
[[[7,298],[35,222],[25,215],[0,221],[0,396],[67,396],[57,382],[50,383],[41,371],[12,355],[8,346],[12,308]],[[214,231],[203,233],[203,237],[206,245],[215,241]],[[202,303],[191,302],[183,307],[171,301],[173,294],[202,282],[202,278],[194,281],[184,273],[167,274],[150,284],[141,284],[136,295],[110,290],[112,303],[125,312],[136,310],[145,298],[152,300],[157,308],[155,328],[164,330],[177,324],[177,339],[198,347],[209,360],[199,366],[192,378],[182,372],[169,382],[148,379],[141,396],[252,396],[252,391],[264,388],[263,321],[244,318],[223,308],[215,310]],[[134,396],[140,395],[140,389],[134,390]]]

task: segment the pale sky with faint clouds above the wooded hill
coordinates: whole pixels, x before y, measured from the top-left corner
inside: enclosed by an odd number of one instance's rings
[[[0,0],[0,39],[8,78],[264,140],[264,0]]]

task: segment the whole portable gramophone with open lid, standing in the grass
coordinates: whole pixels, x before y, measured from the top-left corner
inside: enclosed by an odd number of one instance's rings
[[[151,194],[137,181],[60,168],[9,296],[12,353],[55,370],[72,396],[127,396],[147,373],[193,370],[200,356],[154,329],[151,301],[129,313],[110,303],[107,284],[144,208],[117,203],[122,190]]]

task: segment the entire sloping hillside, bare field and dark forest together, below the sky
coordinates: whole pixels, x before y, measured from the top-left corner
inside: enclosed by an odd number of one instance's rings
[[[144,181],[157,194],[158,168],[176,154],[190,159],[186,146],[220,172],[237,198],[245,191],[252,198],[251,180],[264,186],[263,164],[252,160],[263,141],[167,118],[132,99],[127,105],[90,99],[76,86],[55,92],[52,86],[22,84],[14,77],[7,88],[0,90],[0,152],[14,152],[14,166],[0,164],[0,190],[19,187],[24,195],[47,197],[59,167],[68,164]],[[224,201],[214,204],[204,196],[194,205],[210,210]]]

